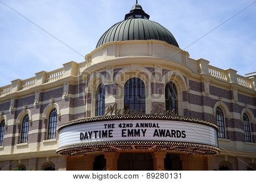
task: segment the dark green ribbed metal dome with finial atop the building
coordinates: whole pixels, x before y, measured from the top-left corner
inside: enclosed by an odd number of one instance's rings
[[[114,24],[101,36],[96,48],[105,43],[126,40],[162,40],[179,47],[170,31],[149,18],[142,6],[136,3],[130,13],[125,15],[125,20]]]

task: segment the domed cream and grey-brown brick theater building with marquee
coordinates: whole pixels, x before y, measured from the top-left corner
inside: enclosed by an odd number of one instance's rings
[[[136,3],[85,61],[0,88],[1,170],[253,170],[256,75],[180,49]]]

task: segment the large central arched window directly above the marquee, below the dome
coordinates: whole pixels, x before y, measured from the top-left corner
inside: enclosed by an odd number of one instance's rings
[[[142,110],[146,113],[145,85],[139,78],[130,78],[125,84],[125,110]]]

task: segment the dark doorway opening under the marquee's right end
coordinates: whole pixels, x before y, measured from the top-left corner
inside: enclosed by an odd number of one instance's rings
[[[182,171],[182,162],[179,154],[166,154],[164,168],[166,168],[166,171]]]

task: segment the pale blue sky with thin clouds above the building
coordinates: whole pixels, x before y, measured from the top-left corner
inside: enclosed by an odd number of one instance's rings
[[[39,71],[61,68],[80,54],[24,19],[5,2],[82,55],[93,51],[101,35],[124,19],[135,0],[0,0],[0,86]],[[144,11],[185,48],[249,5],[253,0],[139,0]],[[193,59],[232,68],[245,75],[256,71],[256,3],[185,48]]]

